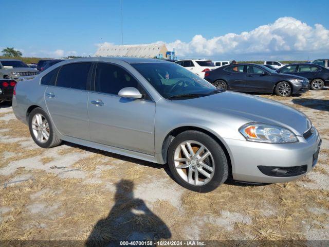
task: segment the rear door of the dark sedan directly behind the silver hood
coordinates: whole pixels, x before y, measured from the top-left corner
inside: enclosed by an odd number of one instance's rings
[[[230,90],[245,91],[244,65],[232,65],[224,69],[225,78]]]

